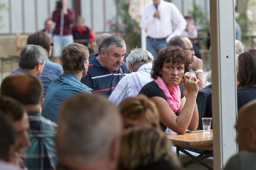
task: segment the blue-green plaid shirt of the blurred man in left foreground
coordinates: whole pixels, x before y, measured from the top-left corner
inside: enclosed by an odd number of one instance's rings
[[[24,150],[23,160],[29,170],[55,169],[57,156],[54,145],[57,124],[39,113],[29,115],[31,145]]]

